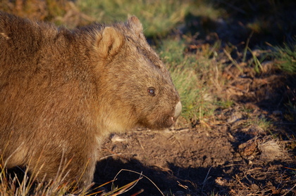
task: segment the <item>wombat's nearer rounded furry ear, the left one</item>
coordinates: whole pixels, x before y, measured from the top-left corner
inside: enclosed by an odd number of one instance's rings
[[[101,36],[98,35],[97,37],[97,51],[103,58],[108,55],[116,55],[123,46],[124,41],[125,38],[121,32],[118,32],[114,27],[105,27]]]

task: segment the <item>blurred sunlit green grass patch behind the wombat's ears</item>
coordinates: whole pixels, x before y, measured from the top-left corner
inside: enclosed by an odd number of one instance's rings
[[[82,12],[95,18],[98,22],[124,21],[127,15],[136,15],[144,25],[147,37],[161,36],[170,32],[183,21],[189,1],[154,0],[78,0]],[[153,24],[153,25],[152,25]]]

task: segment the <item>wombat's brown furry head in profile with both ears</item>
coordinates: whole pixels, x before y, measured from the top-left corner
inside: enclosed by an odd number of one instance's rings
[[[135,17],[104,27],[94,45],[99,55],[97,74],[101,114],[110,131],[145,126],[172,126],[182,105],[171,76],[147,44]],[[102,63],[103,62],[103,63]]]

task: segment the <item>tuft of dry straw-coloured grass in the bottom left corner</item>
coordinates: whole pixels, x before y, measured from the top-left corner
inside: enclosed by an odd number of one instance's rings
[[[0,155],[1,156],[1,155]],[[32,169],[29,172],[29,167],[25,169],[16,168],[9,172],[6,169],[6,163],[3,162],[1,156],[0,162],[0,192],[3,195],[65,195],[72,193],[74,195],[86,195],[91,186],[80,188],[77,187],[77,182],[64,182],[66,170],[69,162],[62,163],[58,168],[58,174],[51,181],[45,182],[40,180],[37,182],[39,168]],[[42,167],[46,166],[42,164]],[[40,178],[40,176],[39,176]]]

